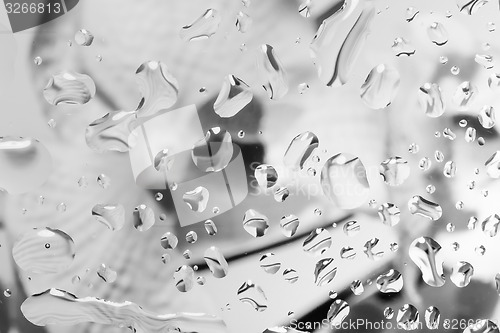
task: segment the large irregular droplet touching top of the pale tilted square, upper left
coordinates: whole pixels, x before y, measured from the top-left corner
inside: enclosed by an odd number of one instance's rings
[[[179,83],[164,63],[145,62],[137,68],[135,77],[142,94],[137,116],[152,116],[177,102]]]

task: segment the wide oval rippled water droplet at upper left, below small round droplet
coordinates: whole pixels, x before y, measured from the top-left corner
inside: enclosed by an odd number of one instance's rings
[[[52,105],[85,104],[95,92],[95,83],[90,76],[65,71],[52,75],[43,89],[43,97]]]

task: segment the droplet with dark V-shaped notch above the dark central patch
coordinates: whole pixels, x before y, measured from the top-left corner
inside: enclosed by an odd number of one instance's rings
[[[234,75],[222,81],[219,95],[214,103],[214,111],[222,118],[233,117],[252,101],[250,87]]]

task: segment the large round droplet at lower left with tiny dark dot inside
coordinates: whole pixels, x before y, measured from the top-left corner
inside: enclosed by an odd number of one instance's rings
[[[35,228],[23,234],[14,244],[12,256],[26,272],[60,273],[73,262],[75,245],[73,239],[61,230]]]

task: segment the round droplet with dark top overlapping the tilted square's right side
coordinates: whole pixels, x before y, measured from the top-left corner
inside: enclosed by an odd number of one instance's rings
[[[195,143],[191,156],[201,171],[221,171],[233,157],[231,134],[220,127],[211,128],[205,138]]]

